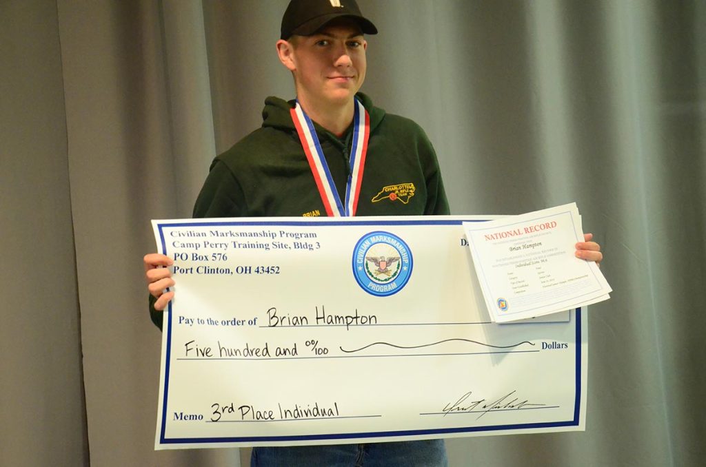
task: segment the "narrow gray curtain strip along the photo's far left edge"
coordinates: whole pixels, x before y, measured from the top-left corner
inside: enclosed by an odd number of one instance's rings
[[[0,1],[0,465],[88,464],[56,4]]]

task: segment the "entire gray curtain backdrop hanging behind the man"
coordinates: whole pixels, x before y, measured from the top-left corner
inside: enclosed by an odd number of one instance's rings
[[[0,0],[0,465],[237,466],[153,451],[150,219],[293,97],[287,0]],[[423,126],[455,214],[576,201],[614,288],[585,432],[448,441],[452,466],[706,458],[706,1],[359,0],[364,92]],[[246,465],[246,462],[244,463]]]

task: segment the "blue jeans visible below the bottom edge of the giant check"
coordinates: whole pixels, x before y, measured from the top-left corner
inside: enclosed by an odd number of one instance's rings
[[[251,467],[446,467],[443,439],[330,446],[256,447]]]

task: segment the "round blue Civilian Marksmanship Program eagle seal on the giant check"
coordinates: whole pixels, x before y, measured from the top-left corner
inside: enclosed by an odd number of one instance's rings
[[[393,295],[412,275],[412,251],[393,233],[366,233],[353,249],[353,275],[364,291],[378,297]]]

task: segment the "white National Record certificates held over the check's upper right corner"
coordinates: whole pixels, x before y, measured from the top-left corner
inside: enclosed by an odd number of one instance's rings
[[[611,291],[595,262],[574,255],[584,241],[575,203],[464,227],[495,322],[590,305]]]

